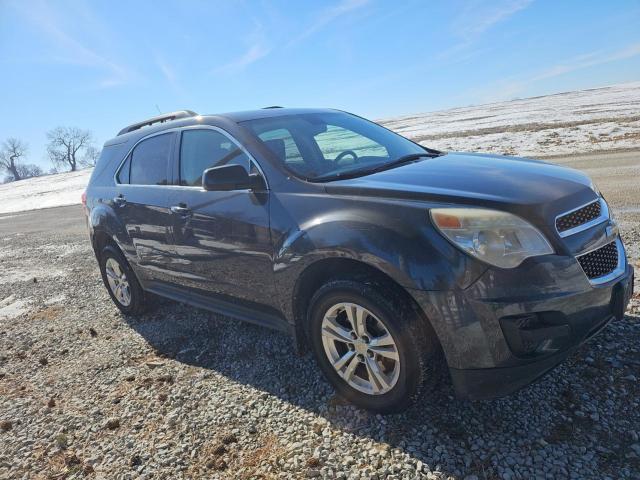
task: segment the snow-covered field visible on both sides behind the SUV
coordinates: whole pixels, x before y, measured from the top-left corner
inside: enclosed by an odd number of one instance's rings
[[[640,82],[379,122],[451,151],[545,157],[640,149]],[[0,185],[0,214],[80,203],[90,175],[87,169]]]

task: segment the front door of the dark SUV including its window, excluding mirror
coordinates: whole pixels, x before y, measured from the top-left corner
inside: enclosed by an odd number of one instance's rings
[[[205,191],[207,168],[238,164],[257,170],[239,144],[218,129],[181,133],[173,189],[172,264],[185,286],[234,303],[273,305],[269,192]]]

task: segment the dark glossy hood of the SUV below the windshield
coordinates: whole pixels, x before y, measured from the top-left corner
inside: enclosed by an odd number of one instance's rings
[[[571,168],[517,157],[448,153],[326,184],[333,194],[514,206],[588,202],[591,179]]]

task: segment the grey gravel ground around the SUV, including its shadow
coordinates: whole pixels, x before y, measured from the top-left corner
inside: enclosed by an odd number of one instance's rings
[[[640,267],[628,155],[561,161],[595,172]],[[0,479],[640,478],[639,298],[513,396],[445,385],[383,417],[281,333],[169,301],[123,316],[83,222],[78,206],[0,216]]]

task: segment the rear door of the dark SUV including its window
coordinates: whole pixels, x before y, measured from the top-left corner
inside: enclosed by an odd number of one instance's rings
[[[171,155],[176,132],[140,141],[116,174],[114,209],[125,225],[126,246],[142,280],[172,282]]]

